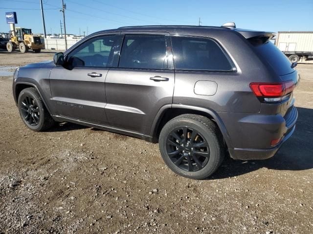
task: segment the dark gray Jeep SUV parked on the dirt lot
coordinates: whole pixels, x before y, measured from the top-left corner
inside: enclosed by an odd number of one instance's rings
[[[73,122],[159,143],[175,173],[203,179],[273,156],[294,131],[299,76],[270,32],[209,26],[100,31],[16,70],[24,124]]]

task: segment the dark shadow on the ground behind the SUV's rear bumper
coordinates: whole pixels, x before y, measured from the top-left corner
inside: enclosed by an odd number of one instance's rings
[[[275,156],[265,160],[234,160],[229,156],[208,179],[240,176],[260,168],[301,171],[313,168],[313,109],[297,107],[298,119],[293,135]]]

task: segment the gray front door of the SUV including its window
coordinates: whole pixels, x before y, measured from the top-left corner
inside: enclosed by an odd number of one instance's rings
[[[115,61],[119,35],[91,38],[66,56],[65,66],[55,66],[50,87],[55,113],[92,123],[106,124],[105,78]]]

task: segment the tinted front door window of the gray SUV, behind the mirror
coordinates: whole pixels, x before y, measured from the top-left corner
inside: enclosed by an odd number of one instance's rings
[[[111,67],[118,36],[90,39],[68,55],[67,62],[74,67]]]

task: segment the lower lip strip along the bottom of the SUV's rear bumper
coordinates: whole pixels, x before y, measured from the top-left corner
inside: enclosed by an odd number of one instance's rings
[[[278,145],[269,149],[241,149],[234,148],[229,149],[230,156],[234,159],[241,160],[252,160],[252,159],[267,159],[276,154],[279,148],[284,144],[284,142],[291,137],[295,129],[295,125],[293,125],[288,131],[288,134],[284,136],[284,138],[280,141]]]

